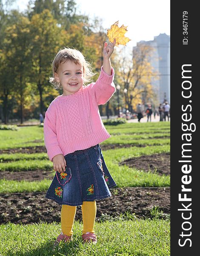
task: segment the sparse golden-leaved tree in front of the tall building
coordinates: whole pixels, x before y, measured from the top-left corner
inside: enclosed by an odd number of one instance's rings
[[[120,51],[119,61],[119,82],[126,89],[125,107],[132,111],[145,94],[146,99],[152,96],[151,77],[154,76],[153,68],[149,63],[151,47],[145,44],[137,44],[132,54],[127,55]]]

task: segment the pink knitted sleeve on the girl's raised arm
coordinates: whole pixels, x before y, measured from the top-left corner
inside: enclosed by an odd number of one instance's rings
[[[114,69],[111,69],[111,76],[109,76],[103,71],[102,66],[100,76],[97,81],[87,86],[89,93],[95,97],[98,105],[104,105],[114,94],[116,89],[113,80]]]

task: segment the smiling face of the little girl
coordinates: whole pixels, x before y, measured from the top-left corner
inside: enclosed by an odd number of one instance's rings
[[[83,66],[66,61],[60,64],[54,77],[63,87],[63,96],[76,93],[83,86]]]

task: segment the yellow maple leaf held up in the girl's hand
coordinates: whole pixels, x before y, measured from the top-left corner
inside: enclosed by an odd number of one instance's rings
[[[126,45],[131,39],[124,36],[124,34],[127,32],[127,26],[120,26],[118,27],[118,21],[116,21],[114,24],[111,25],[110,29],[107,29],[107,37],[109,38],[109,41],[113,43],[114,38],[116,39],[116,46],[118,47],[119,44]]]

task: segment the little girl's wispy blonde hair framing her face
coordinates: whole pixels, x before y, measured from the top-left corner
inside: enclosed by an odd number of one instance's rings
[[[95,75],[95,73],[92,72],[91,64],[88,61],[86,61],[86,58],[80,51],[78,51],[77,49],[64,47],[63,49],[59,50],[52,63],[53,77],[49,77],[49,81],[51,84],[54,84],[55,89],[63,88],[62,85],[56,81],[54,73],[57,73],[60,64],[66,61],[72,61],[75,64],[80,64],[83,66],[83,85],[86,85],[88,82],[90,82],[92,76]]]

